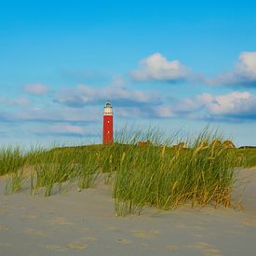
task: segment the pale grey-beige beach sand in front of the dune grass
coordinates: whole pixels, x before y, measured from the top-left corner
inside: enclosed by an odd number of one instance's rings
[[[256,255],[256,168],[239,171],[247,183],[243,207],[173,211],[143,209],[115,217],[106,185],[44,197],[4,195],[0,179],[0,255]],[[243,187],[237,188],[239,198]]]

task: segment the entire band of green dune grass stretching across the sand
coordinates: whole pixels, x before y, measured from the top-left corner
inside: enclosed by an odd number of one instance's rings
[[[143,141],[143,142],[140,142]],[[0,175],[7,174],[7,193],[30,189],[46,196],[77,182],[93,187],[99,175],[111,185],[116,215],[140,214],[143,207],[175,209],[231,205],[235,169],[256,165],[255,149],[235,149],[216,132],[195,138],[164,139],[160,132],[115,136],[112,145],[0,150]]]

